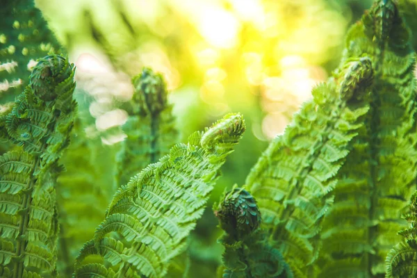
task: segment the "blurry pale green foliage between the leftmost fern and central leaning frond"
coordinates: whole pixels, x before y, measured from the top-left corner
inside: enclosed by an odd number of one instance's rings
[[[58,178],[57,203],[60,220],[58,273],[71,277],[73,265],[85,241],[94,236],[115,193],[115,148],[88,136],[85,126],[94,122],[88,115],[85,94],[76,90],[79,113],[74,121],[70,146],[63,155],[65,172]],[[83,112],[81,112],[83,111]]]

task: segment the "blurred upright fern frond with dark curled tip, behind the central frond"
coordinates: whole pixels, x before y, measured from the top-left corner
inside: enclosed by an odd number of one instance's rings
[[[161,74],[145,68],[133,78],[133,98],[123,108],[128,113],[123,131],[127,138],[117,155],[117,185],[126,184],[133,175],[170,152],[177,143],[172,105]]]

